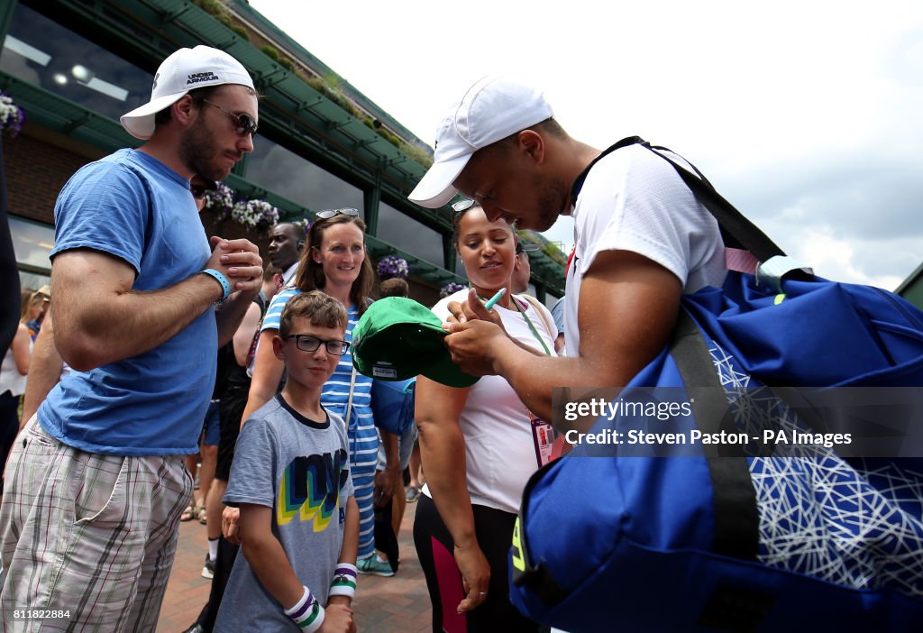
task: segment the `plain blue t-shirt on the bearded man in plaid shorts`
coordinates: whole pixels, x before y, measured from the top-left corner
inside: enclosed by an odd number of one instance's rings
[[[188,181],[136,149],[75,173],[54,206],[54,221],[51,257],[74,248],[118,257],[137,273],[134,291],[173,286],[210,257]],[[217,347],[209,309],[149,352],[65,376],[42,403],[39,421],[66,445],[94,453],[194,453]]]

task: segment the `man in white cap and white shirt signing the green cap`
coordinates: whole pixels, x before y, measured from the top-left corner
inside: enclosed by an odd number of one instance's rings
[[[674,168],[639,146],[603,155],[569,137],[540,90],[482,78],[437,134],[433,166],[410,195],[417,204],[435,209],[461,192],[520,229],[574,219],[568,357],[524,351],[473,294],[454,306],[460,323],[446,338],[452,360],[506,377],[537,416],[552,419],[552,388],[626,385],[663,349],[681,294],[724,281],[717,223]]]

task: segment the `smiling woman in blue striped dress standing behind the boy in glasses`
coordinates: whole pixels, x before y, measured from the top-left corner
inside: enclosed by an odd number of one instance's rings
[[[349,314],[346,341],[352,342],[353,328],[366,311],[368,295],[375,283],[375,270],[366,257],[365,231],[366,224],[356,209],[318,212],[307,233],[294,286],[276,295],[263,318],[244,421],[275,396],[282,380],[283,365],[272,353],[272,337],[279,331],[282,308],[289,299],[312,290],[338,299]],[[353,356],[347,351],[324,386],[321,404],[339,413],[349,424],[350,472],[360,513],[357,567],[366,573],[390,576],[393,574],[390,566],[379,562],[375,553],[373,491],[378,432],[372,416],[371,390],[372,379],[353,371]],[[347,409],[351,410],[349,414]]]

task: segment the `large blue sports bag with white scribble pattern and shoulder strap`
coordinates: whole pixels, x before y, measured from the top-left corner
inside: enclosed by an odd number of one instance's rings
[[[631,137],[605,153],[636,143],[674,165],[725,245],[764,266],[683,297],[672,340],[625,400],[654,387],[685,393],[689,412],[669,422],[680,433],[817,431],[829,421],[791,405],[784,388],[917,388],[904,390],[915,394],[907,415],[923,426],[923,313],[877,288],[788,270],[776,245],[662,148]],[[590,433],[636,422],[604,416]],[[729,444],[683,454],[580,444],[535,472],[510,551],[512,603],[570,633],[923,629],[918,446],[904,459]]]

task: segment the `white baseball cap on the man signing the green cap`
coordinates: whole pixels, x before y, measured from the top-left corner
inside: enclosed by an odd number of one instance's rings
[[[448,204],[458,193],[452,182],[475,151],[553,115],[545,95],[533,86],[509,78],[478,79],[439,125],[433,165],[408,199],[429,209]]]

